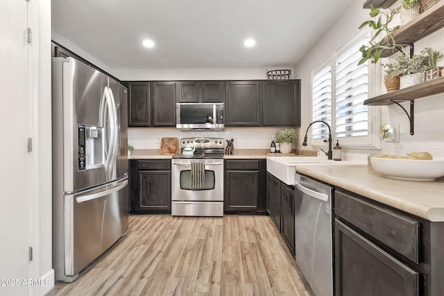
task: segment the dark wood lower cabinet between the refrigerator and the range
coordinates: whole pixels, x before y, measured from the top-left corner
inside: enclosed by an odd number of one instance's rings
[[[130,214],[171,213],[171,161],[130,160]]]

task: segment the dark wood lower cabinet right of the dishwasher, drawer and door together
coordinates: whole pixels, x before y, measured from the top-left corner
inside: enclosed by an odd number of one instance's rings
[[[335,295],[444,295],[444,223],[343,189],[334,217]]]

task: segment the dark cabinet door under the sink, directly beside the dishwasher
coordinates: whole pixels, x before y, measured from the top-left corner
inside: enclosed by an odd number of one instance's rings
[[[281,234],[294,256],[294,187],[281,183]]]

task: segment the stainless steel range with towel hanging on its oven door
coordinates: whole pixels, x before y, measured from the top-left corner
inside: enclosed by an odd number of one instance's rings
[[[223,139],[180,139],[171,159],[171,215],[223,216]]]

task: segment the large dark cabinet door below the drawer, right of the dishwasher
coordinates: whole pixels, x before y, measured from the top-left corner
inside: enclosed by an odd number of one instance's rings
[[[337,219],[334,232],[336,295],[418,295],[418,272]]]

